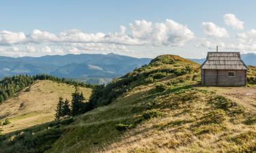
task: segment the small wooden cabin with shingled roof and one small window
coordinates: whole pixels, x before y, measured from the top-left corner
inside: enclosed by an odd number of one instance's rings
[[[247,67],[240,52],[208,52],[201,65],[203,86],[245,86]]]

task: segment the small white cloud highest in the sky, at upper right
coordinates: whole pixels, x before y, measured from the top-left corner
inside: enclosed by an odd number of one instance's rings
[[[240,21],[234,14],[225,14],[223,16],[225,24],[233,27],[234,29],[244,29],[244,22]]]

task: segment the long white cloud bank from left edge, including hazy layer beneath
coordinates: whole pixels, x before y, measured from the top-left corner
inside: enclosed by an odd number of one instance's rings
[[[194,37],[186,25],[171,19],[164,22],[136,20],[128,27],[120,26],[119,31],[114,33],[86,33],[79,29],[61,33],[34,29],[28,34],[0,31],[0,46],[8,50],[3,52],[25,56],[90,51],[133,52],[130,48],[135,46],[183,46]]]

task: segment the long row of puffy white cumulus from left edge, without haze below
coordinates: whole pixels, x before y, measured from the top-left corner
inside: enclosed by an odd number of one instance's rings
[[[27,42],[27,44],[99,43],[126,46],[182,46],[194,37],[194,33],[186,25],[171,19],[156,23],[136,20],[129,24],[128,30],[126,32],[124,26],[121,26],[117,33],[85,33],[78,29],[71,29],[56,35],[55,33],[35,29],[27,37],[24,33],[1,31],[0,44],[10,45]],[[28,48],[28,50],[30,49]]]

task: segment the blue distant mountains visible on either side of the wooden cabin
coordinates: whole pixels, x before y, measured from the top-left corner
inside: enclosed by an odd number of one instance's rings
[[[253,53],[248,53],[248,54],[241,54],[241,58],[242,61],[244,61],[244,63],[246,65],[252,65],[252,66],[256,66],[256,54]],[[201,58],[201,59],[190,59],[191,61],[195,61],[199,64],[202,64],[205,61],[205,58]]]

